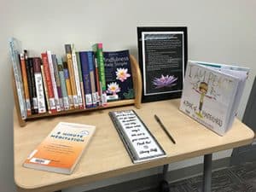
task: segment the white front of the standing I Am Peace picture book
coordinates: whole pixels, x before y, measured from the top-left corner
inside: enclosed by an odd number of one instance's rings
[[[232,125],[239,82],[245,78],[189,61],[180,110],[223,136]]]

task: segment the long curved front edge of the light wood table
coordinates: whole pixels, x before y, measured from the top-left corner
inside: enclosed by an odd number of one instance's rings
[[[63,189],[63,188],[67,188],[67,187],[76,186],[79,184],[87,184],[87,183],[91,183],[91,182],[96,182],[96,181],[99,181],[102,179],[106,179],[108,177],[117,177],[117,176],[120,176],[120,175],[126,174],[126,173],[138,172],[138,171],[149,169],[149,168],[152,168],[155,166],[163,166],[165,164],[174,163],[174,162],[177,162],[180,160],[197,157],[197,156],[201,156],[204,154],[212,154],[212,153],[215,153],[218,151],[222,151],[222,150],[226,150],[226,149],[230,149],[230,148],[241,147],[241,146],[253,143],[254,132],[249,128],[247,128],[247,129],[249,131],[251,131],[251,137],[247,137],[247,139],[245,139],[245,140],[237,141],[235,143],[228,143],[223,146],[215,146],[212,148],[205,148],[202,150],[197,150],[197,151],[191,152],[189,154],[185,154],[185,156],[183,156],[183,154],[177,155],[177,156],[172,156],[172,157],[167,156],[166,158],[162,158],[159,160],[150,160],[150,161],[142,163],[142,164],[126,166],[126,167],[123,167],[123,168],[120,168],[117,170],[108,171],[108,172],[100,172],[93,176],[90,175],[90,176],[73,178],[71,180],[62,181],[60,183],[49,183],[49,185],[26,186],[26,185],[23,185],[22,183],[20,183],[17,180],[16,175],[15,175],[15,185],[19,189],[20,192],[22,192],[22,191],[44,192],[44,191],[48,191],[49,189],[51,189],[51,190]],[[200,153],[200,154],[198,154],[198,153]]]

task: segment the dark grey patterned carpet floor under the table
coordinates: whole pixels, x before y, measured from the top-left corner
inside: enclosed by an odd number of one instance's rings
[[[191,177],[171,183],[170,192],[201,192],[201,186],[202,176]],[[212,192],[256,192],[256,161],[212,172]]]

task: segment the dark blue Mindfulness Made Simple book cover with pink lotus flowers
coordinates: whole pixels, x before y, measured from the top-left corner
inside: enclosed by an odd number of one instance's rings
[[[103,52],[108,102],[133,99],[129,50]]]

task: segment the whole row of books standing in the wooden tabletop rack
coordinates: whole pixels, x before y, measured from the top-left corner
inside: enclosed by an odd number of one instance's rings
[[[107,106],[108,102],[134,98],[129,50],[76,51],[65,44],[65,56],[47,50],[41,57],[20,51],[9,41],[21,118],[37,113]]]

